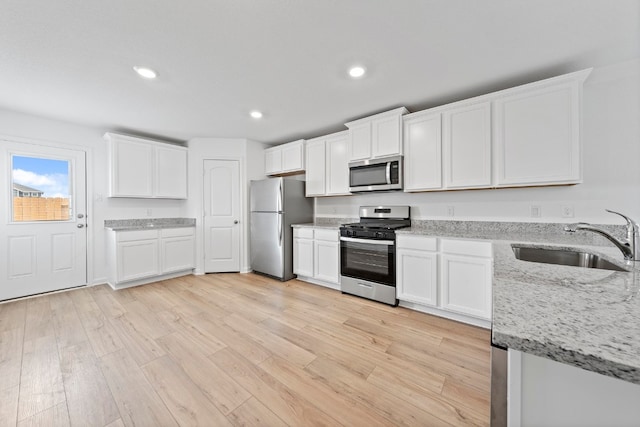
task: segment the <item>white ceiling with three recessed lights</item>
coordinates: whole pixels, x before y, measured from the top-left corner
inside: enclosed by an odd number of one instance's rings
[[[640,57],[640,0],[0,0],[0,11],[0,108],[177,141],[277,144]],[[364,78],[347,76],[355,63]]]

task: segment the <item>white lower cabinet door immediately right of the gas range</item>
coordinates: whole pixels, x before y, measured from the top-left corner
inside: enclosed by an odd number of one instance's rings
[[[398,249],[398,299],[418,304],[438,305],[438,255],[432,252]]]

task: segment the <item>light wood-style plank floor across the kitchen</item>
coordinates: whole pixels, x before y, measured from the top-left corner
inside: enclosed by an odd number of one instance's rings
[[[0,426],[488,425],[489,331],[254,274],[0,304]]]

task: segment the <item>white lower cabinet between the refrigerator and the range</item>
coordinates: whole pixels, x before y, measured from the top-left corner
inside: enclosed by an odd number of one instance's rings
[[[293,272],[299,279],[337,289],[340,284],[338,230],[295,228]]]

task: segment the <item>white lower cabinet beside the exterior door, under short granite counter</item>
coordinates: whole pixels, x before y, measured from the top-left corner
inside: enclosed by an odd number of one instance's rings
[[[188,274],[195,267],[195,229],[112,231],[109,257],[113,288]]]

